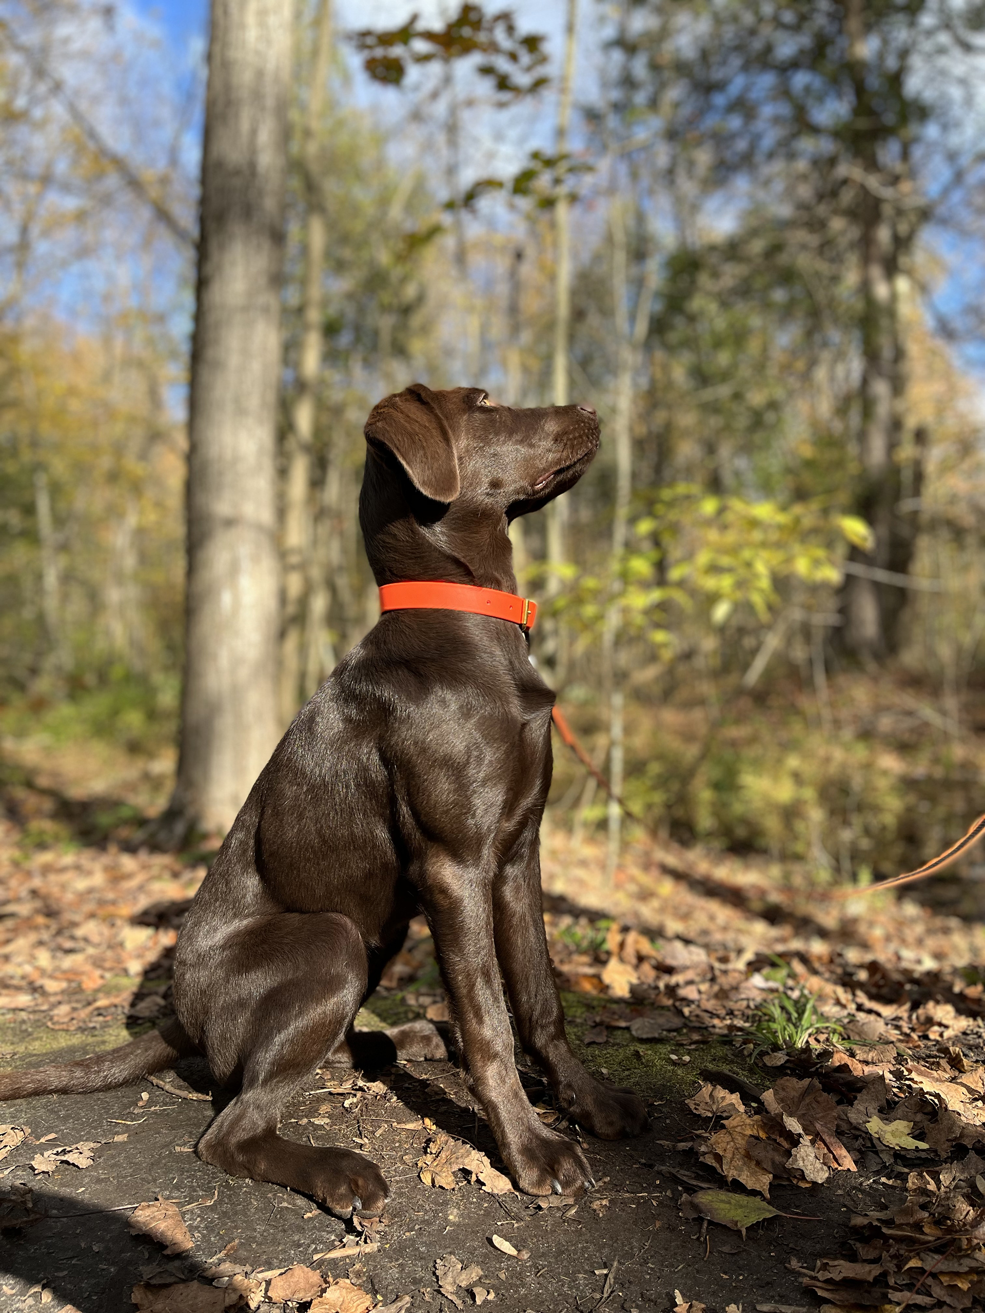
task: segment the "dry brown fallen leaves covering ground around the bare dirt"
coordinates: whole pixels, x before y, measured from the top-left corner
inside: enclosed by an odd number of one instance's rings
[[[985,1162],[976,1154],[985,1150],[985,1078],[974,1054],[985,1037],[985,941],[977,927],[909,898],[839,901],[809,882],[779,884],[764,863],[649,840],[626,848],[604,907],[573,914],[552,910],[552,895],[563,897],[566,909],[595,906],[598,843],[575,850],[548,827],[542,867],[558,981],[596,1010],[574,1022],[575,1037],[580,1027],[595,1029],[600,1045],[670,1039],[684,1049],[721,1037],[747,1062],[758,1057],[764,1085],[772,1079],[762,1103],[711,1079],[695,1082],[688,1107],[705,1125],[690,1144],[729,1186],[717,1192],[722,1201],[691,1204],[695,1217],[745,1232],[753,1222],[735,1225],[749,1213],[734,1200],[775,1208],[767,1201],[774,1184],[825,1191],[863,1166],[889,1171],[906,1187],[904,1201],[854,1217],[850,1251],[805,1268],[809,1288],[843,1309],[909,1299],[914,1308],[943,1310],[982,1301],[976,1218],[985,1207]],[[9,898],[0,920],[0,1007],[70,1029],[127,1008],[142,1008],[150,1020],[163,1015],[177,926],[202,873],[176,857],[121,853],[112,844],[25,852],[18,827],[0,821],[0,878]],[[383,985],[419,1015],[443,1001],[440,986],[415,985],[429,962],[429,936],[418,927]],[[138,989],[151,965],[156,983]],[[763,1052],[751,1037],[763,1002],[780,993],[813,1001],[830,1023],[805,1050]],[[8,1145],[7,1134],[0,1130],[4,1157],[5,1148],[24,1144]],[[440,1134],[412,1159],[422,1176],[428,1171],[431,1184],[448,1190],[465,1173],[491,1192],[470,1158],[478,1152],[461,1141],[447,1145]],[[343,1304],[343,1295],[332,1297]]]

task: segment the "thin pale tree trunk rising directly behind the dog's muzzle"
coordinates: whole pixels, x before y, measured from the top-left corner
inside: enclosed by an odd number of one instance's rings
[[[557,155],[567,151],[567,133],[571,126],[571,98],[574,95],[575,50],[578,46],[578,0],[567,0],[567,30],[565,35],[565,63],[561,74],[561,100],[557,116]],[[570,201],[559,196],[554,205],[554,358],[553,402],[570,402],[571,349],[571,214]],[[548,597],[561,592],[561,567],[567,559],[569,503],[558,498],[546,508]],[[567,632],[559,620],[548,626],[548,654],[554,680],[563,684],[567,678]]]

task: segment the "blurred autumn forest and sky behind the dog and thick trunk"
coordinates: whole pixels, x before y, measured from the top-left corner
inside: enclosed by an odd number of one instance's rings
[[[0,731],[167,801],[205,88],[135,3],[0,3]],[[535,653],[633,813],[865,881],[982,809],[985,11],[298,0],[280,723],[374,622],[362,423],[591,400],[514,525]],[[617,809],[558,751],[550,821]],[[632,823],[630,823],[632,831]],[[972,873],[974,868],[972,868]]]

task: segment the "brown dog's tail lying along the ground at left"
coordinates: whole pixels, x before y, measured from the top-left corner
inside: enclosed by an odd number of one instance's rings
[[[196,1046],[177,1020],[167,1022],[159,1031],[142,1035],[130,1044],[106,1053],[97,1053],[77,1062],[33,1067],[28,1071],[0,1071],[0,1100],[28,1099],[35,1094],[89,1094],[130,1085],[142,1075],[171,1066]]]

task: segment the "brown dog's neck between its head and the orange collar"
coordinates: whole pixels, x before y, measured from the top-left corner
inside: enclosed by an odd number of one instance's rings
[[[514,549],[500,507],[468,494],[448,504],[432,502],[370,456],[360,524],[378,584],[444,579],[516,592]]]

